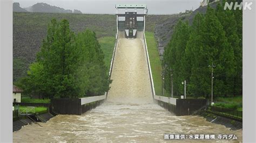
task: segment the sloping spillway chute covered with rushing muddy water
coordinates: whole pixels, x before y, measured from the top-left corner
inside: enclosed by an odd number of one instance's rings
[[[119,33],[111,80],[107,102],[153,102],[143,32],[138,32],[136,39]]]

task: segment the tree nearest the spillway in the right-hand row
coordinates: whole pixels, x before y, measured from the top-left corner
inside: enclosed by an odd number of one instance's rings
[[[189,71],[186,64],[187,59],[185,58],[185,48],[189,37],[190,27],[188,23],[179,20],[174,28],[172,39],[165,48],[165,87],[171,91],[171,74],[173,74],[173,93],[176,95],[183,93],[184,88],[181,82],[189,77],[189,74],[187,74],[187,71]]]

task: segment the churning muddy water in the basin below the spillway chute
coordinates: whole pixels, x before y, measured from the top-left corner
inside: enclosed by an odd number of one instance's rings
[[[39,124],[43,127],[32,124],[14,132],[14,142],[164,142],[167,141],[164,140],[165,133],[215,134],[216,137],[217,134],[235,134],[238,140],[229,142],[242,140],[241,130],[232,131],[203,117],[174,116],[157,104],[105,102],[82,116],[58,115]]]

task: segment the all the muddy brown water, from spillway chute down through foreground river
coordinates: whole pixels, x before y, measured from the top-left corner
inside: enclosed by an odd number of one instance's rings
[[[241,142],[232,131],[198,116],[174,116],[154,104],[142,33],[119,37],[107,101],[82,116],[58,115],[47,123],[26,125],[14,132],[14,142]],[[164,140],[164,134],[215,134],[215,140]],[[235,134],[238,140],[219,140]]]

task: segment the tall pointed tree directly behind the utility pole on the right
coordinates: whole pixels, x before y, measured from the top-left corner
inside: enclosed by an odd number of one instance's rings
[[[227,40],[223,26],[215,16],[214,9],[210,6],[205,15],[203,40],[208,65],[211,65],[212,62],[216,65],[214,69],[215,95],[227,95],[233,86],[233,82],[228,81],[234,75],[234,51]],[[209,77],[211,77],[210,73]]]

